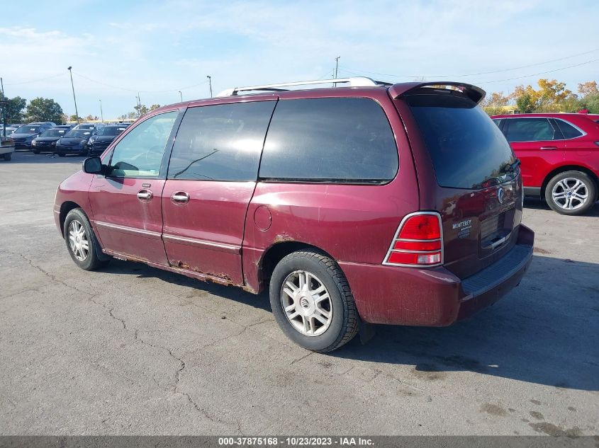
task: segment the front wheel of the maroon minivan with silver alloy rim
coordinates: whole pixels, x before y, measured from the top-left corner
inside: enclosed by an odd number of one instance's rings
[[[101,268],[110,258],[102,253],[96,235],[82,209],[72,209],[65,219],[65,242],[71,258],[84,270]]]

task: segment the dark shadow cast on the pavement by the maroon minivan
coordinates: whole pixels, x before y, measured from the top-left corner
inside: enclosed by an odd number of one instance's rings
[[[119,260],[103,271],[157,277],[271,309],[267,292],[255,296],[236,287]],[[593,263],[535,255],[519,287],[469,320],[446,328],[375,326],[376,334],[366,345],[354,338],[328,355],[402,364],[431,380],[445,372],[466,371],[556,388],[599,391],[598,271],[599,266]]]

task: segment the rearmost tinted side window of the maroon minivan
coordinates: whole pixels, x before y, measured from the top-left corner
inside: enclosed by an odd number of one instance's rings
[[[367,98],[279,100],[260,163],[264,180],[385,183],[398,151],[381,106]]]

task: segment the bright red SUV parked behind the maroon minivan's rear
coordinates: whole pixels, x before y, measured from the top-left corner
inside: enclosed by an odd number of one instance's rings
[[[493,121],[522,161],[525,195],[561,214],[583,214],[598,200],[599,124],[592,115],[496,115]]]

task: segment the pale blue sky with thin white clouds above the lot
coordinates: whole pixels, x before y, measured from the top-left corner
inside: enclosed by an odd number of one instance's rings
[[[340,76],[442,77],[488,92],[599,81],[597,0],[4,1],[1,11],[6,96],[54,98],[72,114],[72,66],[83,116],[100,115],[99,99],[105,118],[127,113],[138,91],[147,105],[177,102],[179,90],[206,98],[206,75],[214,93],[330,78],[337,56]]]

